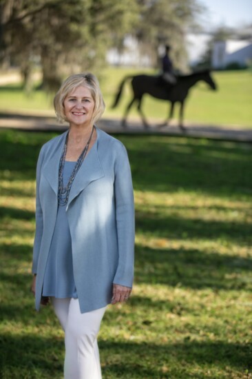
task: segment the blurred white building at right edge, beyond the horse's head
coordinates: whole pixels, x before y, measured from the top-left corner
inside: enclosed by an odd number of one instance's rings
[[[213,45],[211,65],[213,68],[226,68],[230,63],[246,67],[252,61],[252,41],[227,40]]]

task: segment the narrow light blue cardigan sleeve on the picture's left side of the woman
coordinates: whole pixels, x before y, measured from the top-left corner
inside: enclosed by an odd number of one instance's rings
[[[39,183],[41,178],[41,165],[43,162],[43,147],[39,153],[38,162],[36,164],[36,229],[33,245],[33,259],[32,259],[32,274],[36,274],[36,267],[39,260],[39,250],[41,246],[41,239],[43,235],[43,212],[41,208],[41,202],[39,198]]]

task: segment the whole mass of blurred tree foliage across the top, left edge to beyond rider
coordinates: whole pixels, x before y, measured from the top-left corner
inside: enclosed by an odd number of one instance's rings
[[[1,0],[0,59],[21,68],[26,87],[39,62],[51,90],[65,74],[102,68],[107,49],[121,46],[126,34],[154,61],[164,43],[175,61],[185,61],[185,26],[199,11],[196,1]]]

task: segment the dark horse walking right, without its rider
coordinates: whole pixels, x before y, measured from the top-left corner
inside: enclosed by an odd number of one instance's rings
[[[136,76],[126,76],[125,79],[120,83],[118,92],[116,94],[114,104],[112,108],[116,107],[120,101],[120,96],[123,92],[123,87],[127,80],[132,79],[132,90],[134,93],[133,99],[129,102],[126,107],[125,114],[123,116],[122,125],[126,127],[127,115],[129,113],[130,108],[134,104],[135,101],[138,102],[138,112],[143,121],[143,125],[145,127],[149,127],[147,120],[145,119],[145,115],[143,114],[143,110],[141,109],[142,99],[144,94],[149,94],[156,99],[167,100],[171,102],[171,108],[169,112],[169,116],[165,120],[165,123],[162,123],[160,126],[168,126],[169,121],[174,114],[174,104],[180,103],[180,117],[179,117],[179,127],[182,131],[185,131],[185,127],[183,126],[183,116],[184,116],[184,106],[185,100],[187,99],[187,95],[189,94],[189,90],[193,85],[198,83],[198,81],[206,82],[212,90],[217,89],[216,83],[213,81],[211,77],[210,70],[204,70],[202,72],[194,72],[190,75],[182,75],[177,76],[176,84],[171,85],[171,83],[165,82],[162,79],[162,76],[151,76],[140,74]]]

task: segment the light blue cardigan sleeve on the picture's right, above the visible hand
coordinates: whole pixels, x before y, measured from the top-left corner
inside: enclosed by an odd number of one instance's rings
[[[118,236],[118,267],[113,283],[132,287],[134,277],[134,194],[127,151],[121,146],[115,162],[114,194]]]

